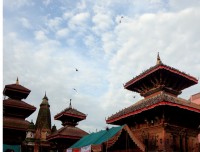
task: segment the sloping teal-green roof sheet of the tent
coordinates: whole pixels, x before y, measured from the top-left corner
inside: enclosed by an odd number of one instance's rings
[[[91,133],[84,136],[79,141],[77,141],[70,148],[80,148],[88,145],[99,145],[103,142],[112,138],[116,133],[118,133],[124,126],[112,127],[109,130],[102,130],[97,133]]]

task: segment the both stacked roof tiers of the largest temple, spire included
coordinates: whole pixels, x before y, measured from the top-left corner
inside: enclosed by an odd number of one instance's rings
[[[197,83],[198,80],[195,77],[164,65],[158,54],[155,66],[144,71],[124,85],[125,89],[138,92],[145,98],[108,117],[106,122],[121,125],[125,122],[123,120],[127,118],[133,118],[139,113],[162,106],[178,107],[187,111],[200,113],[199,105],[177,97],[183,89]]]

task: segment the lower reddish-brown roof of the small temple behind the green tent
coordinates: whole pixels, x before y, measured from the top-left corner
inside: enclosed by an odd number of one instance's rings
[[[80,139],[88,133],[73,126],[64,126],[47,137],[48,140],[58,138]]]

